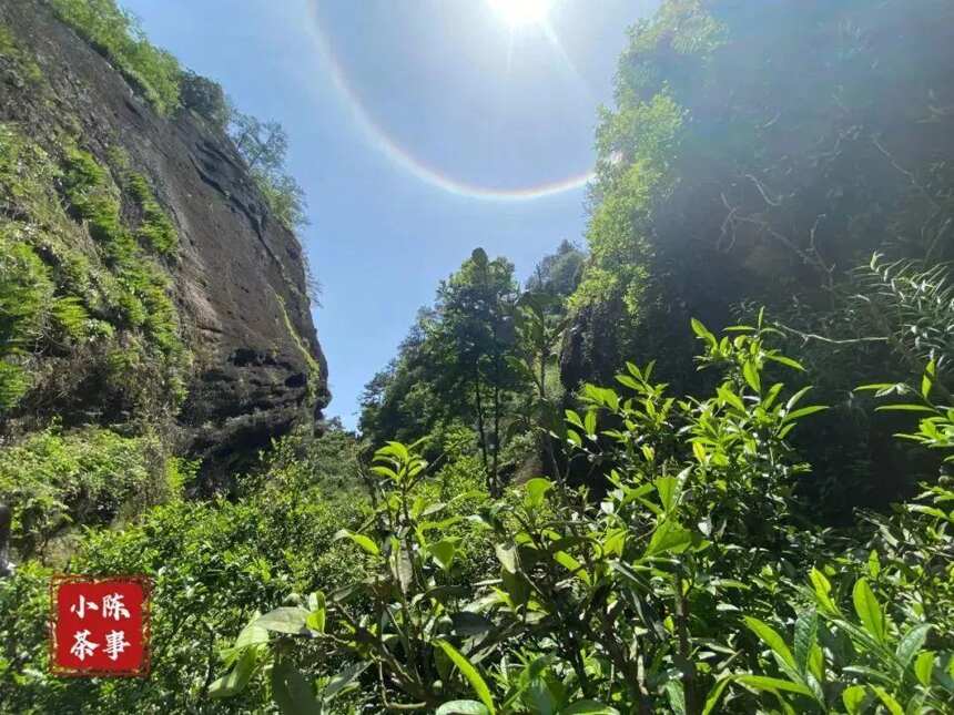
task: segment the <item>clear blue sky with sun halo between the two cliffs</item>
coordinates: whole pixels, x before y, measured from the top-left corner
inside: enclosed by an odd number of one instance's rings
[[[597,106],[627,27],[656,6],[554,0],[546,25],[511,28],[488,0],[121,2],[242,111],[287,130],[324,286],[326,413],[348,426],[476,246],[522,278],[561,239],[582,244]]]

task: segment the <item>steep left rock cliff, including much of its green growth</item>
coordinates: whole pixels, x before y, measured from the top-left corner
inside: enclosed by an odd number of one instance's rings
[[[88,267],[87,284],[92,286],[85,293],[67,289],[69,282],[58,277],[55,299],[74,300],[90,324],[100,326],[92,338],[54,345],[30,357],[35,374],[32,391],[18,407],[0,413],[3,429],[29,429],[24,426],[53,416],[67,425],[115,428],[133,422],[141,418],[141,410],[131,406],[134,400],[114,395],[113,382],[123,374],[151,390],[141,402],[164,410],[179,449],[202,458],[210,474],[237,467],[295,425],[314,423],[329,395],[302,246],[272,216],[231,140],[195,112],[158,113],[104,53],[60,22],[43,2],[3,0],[0,30],[0,139],[6,141],[8,160],[16,153],[11,146],[31,157],[9,162],[10,174],[22,177],[21,168],[29,168],[30,162],[47,166],[54,203],[69,219],[44,218],[35,208],[40,204],[27,201],[11,180],[0,207],[4,235],[29,243],[30,226],[49,229],[47,253],[35,241],[32,249],[54,276],[68,273],[64,256],[72,256],[73,263]],[[99,184],[92,180],[81,184],[77,176],[98,177]],[[95,213],[99,204],[88,206],[93,191],[89,186],[115,198],[116,235],[134,236],[129,251],[140,259],[135,265],[159,276],[152,285],[161,286],[170,302],[163,319],[174,335],[168,341],[182,346],[175,358],[181,385],[171,380],[171,368],[158,369],[158,379],[149,385],[139,379],[135,369],[148,362],[145,358],[130,360],[129,370],[116,369],[120,348],[128,354],[130,346],[142,344],[144,356],[174,351],[161,341],[161,350],[149,346],[160,335],[150,333],[159,308],[149,309],[148,293],[122,293],[130,276],[142,272],[132,272],[128,266],[133,264],[111,254],[110,232],[97,223],[103,223]],[[162,222],[171,223],[177,236],[175,251],[149,247],[152,215],[164,215]],[[120,299],[113,303],[121,307],[115,309],[110,307],[113,294],[104,287],[111,282],[119,286],[114,294]],[[124,306],[123,296],[141,298],[146,307],[142,320],[129,317],[133,311]],[[100,339],[102,335],[109,339]],[[170,359],[163,358],[163,365]],[[97,362],[99,367],[90,367]],[[75,375],[69,389],[63,388],[67,371]],[[165,399],[176,389],[179,399]],[[55,399],[44,399],[54,390]]]

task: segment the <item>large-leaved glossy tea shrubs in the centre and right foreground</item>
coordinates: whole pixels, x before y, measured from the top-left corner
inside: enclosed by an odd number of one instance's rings
[[[450,533],[450,504],[422,498],[428,464],[416,447],[378,450],[374,519],[338,532],[372,578],[250,622],[211,694],[241,693],[263,668],[286,713],[322,712],[358,684],[369,707],[438,713],[954,704],[951,561],[936,553],[950,549],[954,513],[938,509],[950,490],[905,509],[928,522],[903,515],[880,529],[919,534],[905,547],[917,558],[887,539],[855,559],[844,542],[857,548],[864,527],[853,540],[825,534],[794,498],[806,466],[786,438],[824,408],[773,374],[801,366],[768,346],[761,318],[721,339],[693,330],[700,365],[723,375],[714,394],[668,397],[652,366],[631,364],[617,378],[623,394],[586,386],[585,411],[549,431],[570,461],[603,469],[606,493],[558,472],[475,504],[469,522],[498,563],[481,582],[454,579],[466,542]],[[317,660],[304,655],[315,643]],[[317,688],[302,667],[321,675]]]

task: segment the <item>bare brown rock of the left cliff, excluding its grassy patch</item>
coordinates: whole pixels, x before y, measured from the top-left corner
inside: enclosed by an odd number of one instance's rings
[[[314,422],[329,395],[302,247],[270,214],[231,141],[187,110],[159,115],[44,3],[4,0],[0,23],[10,35],[6,51],[0,50],[0,124],[6,131],[40,147],[51,164],[61,163],[64,141],[91,156],[112,177],[120,218],[142,245],[150,207],[136,201],[135,186],[131,190],[123,177],[144,178],[177,234],[174,254],[148,257],[169,278],[163,289],[186,355],[180,360],[183,396],[166,420],[177,445],[202,458],[206,472],[223,473],[296,423]],[[60,188],[69,186],[69,172],[65,176],[58,180]],[[94,267],[102,263],[105,277],[115,273],[109,251],[89,238],[97,238],[90,228],[95,219],[77,211],[75,197],[72,205],[62,201],[78,228],[60,232],[72,243],[63,251],[79,251]],[[22,218],[10,213],[22,210],[4,211],[10,221]],[[54,269],[60,264],[51,263]],[[119,279],[123,282],[121,275]],[[88,303],[93,317],[111,319],[97,302]],[[128,333],[129,340],[148,335],[145,328]],[[72,356],[52,350],[49,358],[61,360],[61,369],[72,365],[82,370],[78,350],[68,350]],[[41,382],[34,391],[42,391]],[[102,372],[78,378],[74,387],[47,416],[108,426],[135,418],[131,410],[122,412],[122,400],[104,397],[110,390]],[[159,380],[155,399],[162,401],[161,392],[170,389]],[[8,419],[35,419],[43,400],[39,392],[32,397],[28,394]]]

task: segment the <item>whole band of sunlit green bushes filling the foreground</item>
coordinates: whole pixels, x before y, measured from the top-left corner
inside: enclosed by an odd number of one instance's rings
[[[494,498],[460,435],[434,466],[398,442],[364,466],[332,430],[277,445],[234,501],[90,531],[69,570],[155,579],[149,681],[45,675],[50,571],[24,564],[0,588],[2,692],[17,712],[943,712],[950,478],[893,515],[815,525],[790,438],[824,408],[785,387],[801,367],[764,324],[693,329],[711,396],[630,364],[538,428],[567,468],[600,464],[601,489],[558,470]],[[865,389],[950,461],[935,378],[928,362],[912,388]],[[57,458],[55,436],[37,441],[21,449]]]

